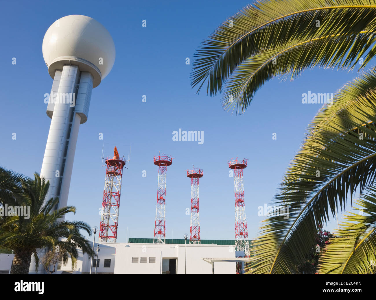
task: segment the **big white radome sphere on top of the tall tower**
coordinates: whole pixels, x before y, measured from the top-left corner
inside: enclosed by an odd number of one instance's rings
[[[64,64],[79,65],[81,71],[92,73],[94,87],[110,73],[115,62],[111,35],[98,21],[84,15],[56,20],[44,35],[42,52],[51,77]]]

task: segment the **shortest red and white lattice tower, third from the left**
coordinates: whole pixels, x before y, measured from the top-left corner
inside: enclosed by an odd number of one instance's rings
[[[199,216],[199,178],[204,176],[203,170],[193,169],[187,171],[187,177],[191,178],[191,230],[190,244],[201,244],[200,216]]]

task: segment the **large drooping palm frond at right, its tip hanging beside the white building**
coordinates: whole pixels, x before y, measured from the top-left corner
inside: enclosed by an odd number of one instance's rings
[[[265,220],[254,242],[253,273],[294,273],[294,266],[314,246],[316,228],[345,209],[347,197],[352,199],[357,189],[361,194],[373,184],[376,89],[366,88],[365,83],[374,77],[370,72],[345,85],[335,95],[333,106],[325,106],[312,121],[273,199],[276,206],[289,208],[289,218]]]

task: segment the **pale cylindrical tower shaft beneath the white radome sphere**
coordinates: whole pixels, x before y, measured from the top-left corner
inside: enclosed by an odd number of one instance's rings
[[[50,181],[46,199],[59,197],[58,208],[67,206],[79,126],[87,120],[93,77],[75,65],[57,70],[47,114],[51,125],[42,162],[41,176]],[[76,95],[77,98],[76,98]]]

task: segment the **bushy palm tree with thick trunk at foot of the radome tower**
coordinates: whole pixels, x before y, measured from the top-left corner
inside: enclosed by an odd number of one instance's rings
[[[81,235],[85,230],[91,235],[91,228],[82,221],[62,221],[68,212],[76,213],[74,206],[54,210],[58,198],[45,202],[49,182],[45,182],[37,173],[35,179],[24,180],[22,185],[24,204],[29,215],[8,216],[0,220],[0,248],[13,250],[15,253],[11,274],[28,274],[32,255],[38,270],[38,249],[52,248],[59,251],[66,261],[67,255],[72,259],[72,268],[76,264],[78,248],[83,253],[94,255],[88,239]]]

